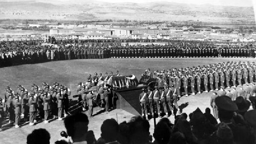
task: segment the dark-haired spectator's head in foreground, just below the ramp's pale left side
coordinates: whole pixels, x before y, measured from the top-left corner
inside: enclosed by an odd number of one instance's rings
[[[107,119],[100,127],[101,137],[105,143],[119,144],[117,138],[119,135],[119,125],[115,119]]]

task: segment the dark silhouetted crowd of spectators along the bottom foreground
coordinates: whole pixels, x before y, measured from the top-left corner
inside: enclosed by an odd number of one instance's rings
[[[217,97],[215,103],[219,108],[219,124],[210,108],[204,113],[197,108],[189,115],[177,115],[173,124],[168,118],[161,118],[152,134],[149,122],[141,116],[120,124],[111,118],[101,124],[98,140],[88,130],[88,116],[76,113],[65,118],[66,132],[60,133],[62,137],[55,144],[255,144],[256,110],[241,113],[239,103],[227,96]],[[47,130],[36,129],[28,134],[27,144],[50,144],[50,139]]]

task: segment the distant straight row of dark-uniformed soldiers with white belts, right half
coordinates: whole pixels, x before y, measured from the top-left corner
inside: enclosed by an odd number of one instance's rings
[[[111,58],[176,58],[176,57],[253,57],[256,50],[251,49],[224,49],[224,48],[133,48],[111,49]]]

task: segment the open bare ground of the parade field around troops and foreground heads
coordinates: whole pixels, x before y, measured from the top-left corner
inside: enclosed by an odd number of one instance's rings
[[[224,61],[255,61],[255,59],[229,59],[229,58],[175,58],[175,59],[103,59],[103,60],[67,60],[54,61],[41,64],[21,65],[7,68],[0,68],[0,90],[3,98],[5,87],[10,86],[12,90],[16,91],[17,85],[22,84],[28,91],[31,84],[35,83],[41,86],[42,82],[51,84],[58,82],[69,87],[71,95],[75,93],[78,82],[85,82],[88,74],[105,72],[113,73],[119,70],[121,75],[134,74],[140,79],[141,73],[145,69],[150,68],[151,71],[156,69],[169,68],[185,68],[198,65],[208,65]],[[203,93],[200,95],[181,97],[178,105],[182,105],[183,112],[189,114],[199,107],[203,112],[205,108],[209,107],[210,96],[212,92]],[[95,108],[94,114],[100,111],[100,108]],[[111,111],[108,115],[102,113],[97,116],[89,118],[89,130],[93,130],[96,139],[100,137],[100,125],[105,119],[115,118],[118,122],[128,121],[133,115],[116,109]],[[157,119],[158,120],[158,119]],[[170,117],[174,123],[174,116]],[[150,132],[154,132],[153,120],[150,120]],[[0,144],[19,143],[25,144],[27,135],[37,128],[45,128],[51,134],[51,143],[54,143],[60,138],[60,132],[65,130],[63,121],[52,121],[49,124],[39,123],[35,126],[22,126],[19,129],[10,128],[0,132]]]

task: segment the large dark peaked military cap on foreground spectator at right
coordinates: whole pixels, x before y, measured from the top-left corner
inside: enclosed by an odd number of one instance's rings
[[[227,111],[237,111],[238,108],[236,103],[233,102],[228,96],[220,96],[215,98],[215,103],[218,108],[224,109]]]

